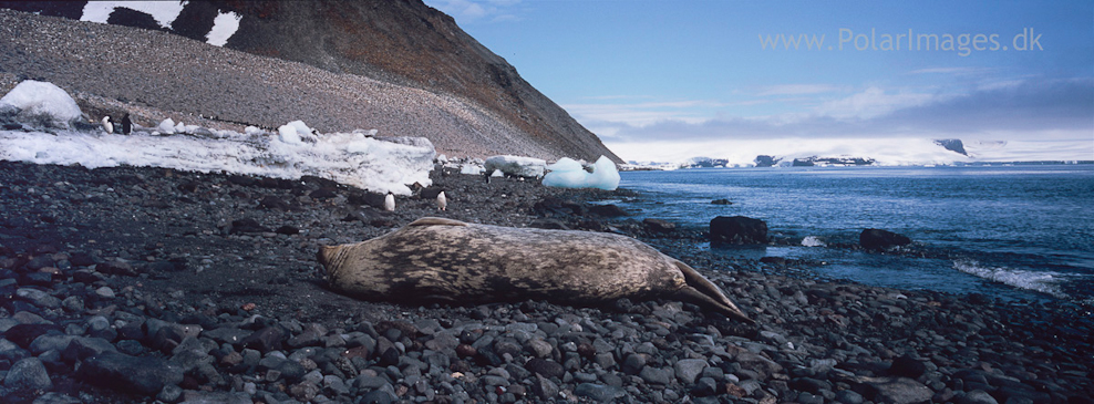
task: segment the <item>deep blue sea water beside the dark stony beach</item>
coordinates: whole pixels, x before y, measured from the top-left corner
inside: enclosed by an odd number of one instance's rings
[[[706,228],[716,216],[767,222],[778,242],[718,253],[802,259],[820,278],[900,289],[1094,304],[1094,165],[783,167],[625,172],[638,218]],[[714,199],[732,205],[713,205]],[[846,247],[866,228],[927,253]],[[843,246],[840,246],[843,245]],[[926,257],[926,258],[925,258]]]

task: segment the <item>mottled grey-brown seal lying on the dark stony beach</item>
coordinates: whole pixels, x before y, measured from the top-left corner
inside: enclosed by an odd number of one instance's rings
[[[597,304],[674,298],[752,322],[688,265],[633,238],[425,217],[358,244],[320,247],[336,291],[365,300]]]

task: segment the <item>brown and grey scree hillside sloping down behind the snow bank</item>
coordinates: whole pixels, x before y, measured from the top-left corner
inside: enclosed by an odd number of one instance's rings
[[[85,3],[0,7],[80,19]],[[238,17],[224,48],[199,43],[223,13]],[[619,162],[504,59],[420,0],[193,1],[166,24],[126,8],[113,10],[105,27],[28,13],[2,17],[4,25],[22,29],[0,29],[0,72],[53,81],[87,93],[85,100],[121,102],[104,111],[137,104],[264,126],[301,118],[321,131],[425,136],[452,155],[607,155]],[[51,31],[65,32],[70,42],[45,48]],[[28,35],[33,32],[41,35]],[[240,64],[248,69],[240,71]]]

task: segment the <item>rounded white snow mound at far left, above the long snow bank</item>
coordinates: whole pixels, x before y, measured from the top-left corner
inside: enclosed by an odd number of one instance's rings
[[[53,83],[25,80],[0,99],[0,111],[10,110],[16,121],[40,127],[72,127],[83,118],[80,106]]]

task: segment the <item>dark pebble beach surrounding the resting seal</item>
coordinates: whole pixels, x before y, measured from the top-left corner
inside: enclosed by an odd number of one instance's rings
[[[320,178],[0,162],[0,401],[1088,403],[1094,321],[1064,302],[765,273],[641,197],[434,170],[448,209]],[[757,324],[675,301],[399,305],[326,289],[321,245],[422,216],[636,236]]]

